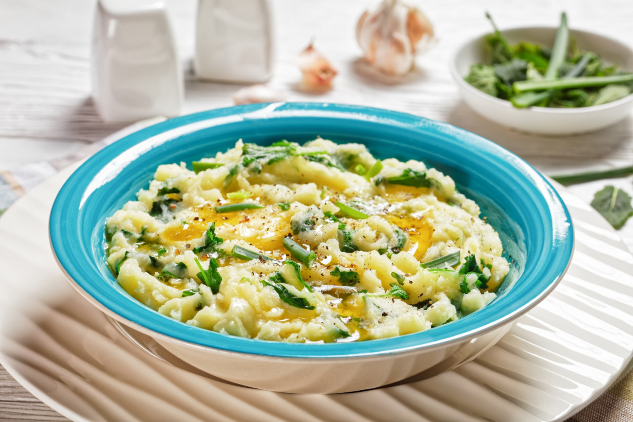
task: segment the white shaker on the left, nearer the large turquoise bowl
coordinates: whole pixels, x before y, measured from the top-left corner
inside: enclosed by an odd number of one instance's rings
[[[92,96],[101,118],[177,116],[182,92],[182,69],[163,1],[97,1]]]

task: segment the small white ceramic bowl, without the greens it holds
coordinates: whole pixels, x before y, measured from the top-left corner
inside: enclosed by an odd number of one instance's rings
[[[510,44],[520,41],[537,42],[542,46],[554,44],[557,28],[520,27],[501,31]],[[480,116],[521,130],[540,135],[571,135],[599,130],[630,116],[633,94],[600,106],[584,108],[516,108],[510,101],[498,99],[468,84],[470,65],[490,63],[490,51],[486,45],[487,34],[465,42],[451,59],[451,74],[464,101]],[[570,30],[580,50],[598,54],[606,63],[618,63],[623,70],[633,71],[633,51],[617,40],[591,32]]]

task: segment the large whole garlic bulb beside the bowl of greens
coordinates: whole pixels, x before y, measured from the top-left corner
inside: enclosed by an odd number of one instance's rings
[[[356,39],[370,65],[387,75],[408,73],[415,54],[435,42],[426,16],[399,0],[384,0],[375,11],[365,11],[356,25]]]

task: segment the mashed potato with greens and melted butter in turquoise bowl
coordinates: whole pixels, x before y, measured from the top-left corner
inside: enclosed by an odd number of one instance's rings
[[[494,299],[498,234],[453,180],[361,144],[237,142],[158,167],[108,218],[108,263],[146,306],[241,337],[342,342],[428,330]]]

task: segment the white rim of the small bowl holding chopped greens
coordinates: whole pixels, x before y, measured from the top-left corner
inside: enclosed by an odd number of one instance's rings
[[[544,30],[544,29],[556,30],[558,29],[558,27],[548,27],[548,26],[543,26],[543,25],[527,25],[527,26],[523,25],[523,26],[508,27],[508,28],[500,29],[499,32],[501,32],[501,34],[504,34],[506,32],[514,32],[514,31],[520,31],[520,30]],[[582,30],[582,29],[570,28],[570,34],[574,34],[574,33],[584,34],[591,37],[599,37],[601,39],[607,40],[611,44],[615,44],[618,47],[622,47],[625,50],[627,50],[629,55],[633,59],[633,49],[629,47],[627,44],[625,44],[624,42],[618,39],[615,39],[613,37],[610,37],[609,35],[600,34],[598,32],[591,32],[591,31]],[[457,61],[458,61],[458,58],[460,57],[460,54],[463,51],[465,51],[470,44],[474,44],[477,40],[483,40],[484,37],[486,37],[486,35],[489,35],[489,34],[492,34],[492,32],[491,31],[482,32],[479,35],[471,37],[467,39],[465,42],[462,42],[458,47],[453,49],[453,53],[451,54],[451,58],[449,59],[449,68],[451,71],[451,76],[453,77],[453,80],[458,85],[458,87],[460,87],[461,89],[468,90],[468,92],[470,92],[471,94],[481,99],[484,99],[485,101],[492,102],[494,104],[497,104],[498,106],[502,106],[508,109],[516,110],[520,113],[531,112],[531,113],[542,113],[544,115],[583,115],[583,114],[594,113],[598,111],[606,111],[611,108],[617,108],[618,106],[622,104],[626,104],[627,102],[633,101],[633,92],[631,92],[626,97],[620,98],[616,101],[607,102],[606,104],[600,104],[599,106],[588,106],[588,107],[578,107],[578,108],[555,108],[555,107],[531,106],[527,108],[517,108],[513,106],[512,103],[508,100],[488,95],[485,92],[482,92],[481,90],[468,84],[468,82],[464,80],[464,76],[461,75],[460,71],[457,70]],[[471,63],[470,65],[474,65],[474,64],[476,63]]]

